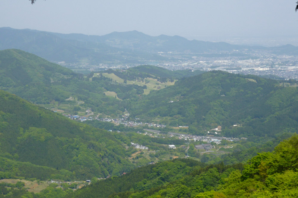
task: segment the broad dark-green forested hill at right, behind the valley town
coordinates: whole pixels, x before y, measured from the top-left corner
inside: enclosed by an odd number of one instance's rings
[[[137,118],[189,125],[190,133],[221,125],[225,136],[273,136],[297,130],[297,92],[271,79],[212,71],[151,91],[128,109]]]

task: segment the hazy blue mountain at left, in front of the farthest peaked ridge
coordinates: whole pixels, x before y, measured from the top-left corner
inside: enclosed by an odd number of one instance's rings
[[[0,50],[21,49],[52,62],[77,63],[89,60],[90,64],[140,63],[139,59],[163,59],[160,56],[114,48],[105,43],[64,39],[55,33],[30,29],[0,28]],[[86,35],[85,35],[86,36]],[[120,51],[119,51],[120,50]]]

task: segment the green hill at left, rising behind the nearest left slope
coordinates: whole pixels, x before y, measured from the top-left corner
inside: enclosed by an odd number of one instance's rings
[[[119,100],[107,97],[96,82],[21,50],[0,51],[0,76],[1,89],[33,103],[59,106],[63,102],[71,111],[81,100],[83,108],[105,114],[122,110]]]

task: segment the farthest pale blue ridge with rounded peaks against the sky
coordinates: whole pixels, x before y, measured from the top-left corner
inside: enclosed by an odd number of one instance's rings
[[[212,50],[232,50],[242,49],[248,46],[232,45],[225,42],[206,42],[199,40],[188,40],[181,36],[167,36],[161,34],[159,36],[149,36],[136,30],[128,32],[111,32],[103,36],[84,35],[84,34],[60,34],[52,33],[64,39],[80,40],[83,42],[97,42],[105,43],[107,45],[118,48],[130,48],[139,50],[150,51],[178,51],[184,52],[190,50],[191,52],[206,52]],[[261,48],[261,47],[257,47]]]

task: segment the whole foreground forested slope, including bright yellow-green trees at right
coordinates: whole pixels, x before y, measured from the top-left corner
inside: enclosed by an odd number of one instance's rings
[[[178,159],[100,180],[66,197],[297,197],[297,135],[244,166]]]

